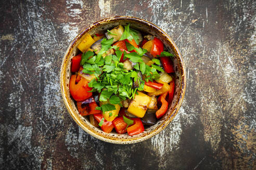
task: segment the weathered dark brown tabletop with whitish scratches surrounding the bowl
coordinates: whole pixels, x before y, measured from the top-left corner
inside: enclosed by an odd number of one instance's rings
[[[0,169],[256,169],[255,8],[253,0],[0,1]],[[134,145],[83,132],[58,84],[75,35],[120,15],[166,31],[188,79],[167,129]]]

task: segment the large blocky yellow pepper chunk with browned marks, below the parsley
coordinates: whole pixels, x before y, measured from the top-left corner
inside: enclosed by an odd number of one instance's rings
[[[127,111],[136,117],[143,118],[150,101],[151,98],[148,95],[138,91],[138,94],[135,94],[134,100],[132,100]]]

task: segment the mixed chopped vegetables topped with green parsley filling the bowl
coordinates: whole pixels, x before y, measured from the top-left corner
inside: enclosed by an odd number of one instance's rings
[[[71,61],[69,89],[81,116],[106,133],[136,135],[171,104],[173,54],[160,39],[119,25],[87,34]]]

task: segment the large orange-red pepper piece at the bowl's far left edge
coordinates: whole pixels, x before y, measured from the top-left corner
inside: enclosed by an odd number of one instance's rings
[[[92,90],[92,88],[88,87],[88,81],[84,78],[81,78],[81,80],[77,84],[75,84],[75,79],[76,75],[72,75],[69,82],[70,94],[74,98],[74,100],[76,102],[81,102],[91,97],[93,93],[88,92]]]

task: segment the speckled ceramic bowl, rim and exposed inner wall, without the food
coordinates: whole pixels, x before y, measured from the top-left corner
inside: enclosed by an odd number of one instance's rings
[[[130,23],[130,27],[140,32],[148,33],[153,36],[160,38],[163,44],[172,52],[174,57],[174,69],[175,69],[175,95],[172,104],[169,105],[167,113],[158,120],[157,124],[148,127],[143,133],[138,135],[129,136],[127,134],[117,134],[116,132],[105,133],[100,128],[94,127],[87,118],[80,116],[78,109],[76,109],[74,101],[70,97],[69,92],[69,80],[71,76],[71,59],[73,56],[78,54],[79,50],[77,46],[83,40],[86,34],[94,35],[97,32],[110,30],[112,27],[117,25],[127,25]],[[150,137],[161,132],[177,115],[178,109],[180,109],[183,97],[186,89],[186,74],[185,66],[182,60],[182,56],[178,48],[174,44],[173,40],[158,26],[135,17],[113,17],[106,18],[97,21],[88,27],[86,27],[78,36],[74,38],[70,44],[62,61],[61,72],[60,72],[60,88],[63,101],[69,111],[70,116],[74,119],[82,129],[88,134],[109,143],[114,144],[133,144],[149,139]]]

